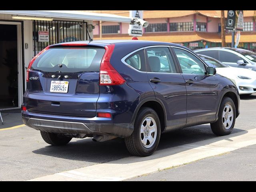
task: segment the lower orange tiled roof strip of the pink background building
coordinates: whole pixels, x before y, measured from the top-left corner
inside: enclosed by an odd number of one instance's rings
[[[102,39],[131,39],[128,34],[102,34]],[[99,40],[99,35],[94,35],[95,40]],[[144,33],[139,40],[162,41],[172,43],[185,43],[205,40],[207,42],[221,42],[220,33],[210,32],[170,32],[170,33]],[[226,35],[226,42],[231,43],[231,34]],[[241,32],[240,42],[256,42],[256,32]]]

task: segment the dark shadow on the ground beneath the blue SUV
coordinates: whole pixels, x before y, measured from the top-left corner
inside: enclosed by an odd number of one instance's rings
[[[247,133],[245,130],[234,129],[232,134],[238,132],[240,134]],[[226,137],[232,137],[232,134]],[[210,144],[207,141],[211,138],[215,138],[216,141],[224,139],[223,137],[215,136],[212,133],[209,124],[174,130],[172,132],[162,134],[156,151],[166,149],[172,150],[173,147],[191,144],[198,141],[205,141],[205,144]],[[187,149],[184,148],[184,150]],[[73,142],[71,140],[71,142],[66,146],[46,146],[44,148],[34,150],[33,153],[94,163],[106,163],[132,156],[127,151],[124,140],[121,138],[116,138],[106,142],[94,142],[91,138],[76,140]],[[136,159],[140,161],[140,158]],[[142,158],[141,161],[143,161],[143,159],[144,158]]]

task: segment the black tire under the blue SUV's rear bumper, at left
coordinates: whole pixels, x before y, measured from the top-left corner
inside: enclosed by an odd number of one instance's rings
[[[66,137],[62,134],[54,134],[45,131],[40,131],[40,133],[46,143],[54,146],[66,145],[72,139],[72,137]]]

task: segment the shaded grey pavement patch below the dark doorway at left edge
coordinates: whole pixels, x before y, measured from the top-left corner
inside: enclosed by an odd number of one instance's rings
[[[2,118],[4,120],[3,125],[2,125],[2,122],[0,120],[0,129],[9,128],[9,127],[13,127],[13,126],[23,124],[20,109],[2,110],[0,112],[1,112]]]

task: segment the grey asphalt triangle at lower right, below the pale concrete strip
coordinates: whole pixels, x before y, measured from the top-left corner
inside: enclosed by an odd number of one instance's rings
[[[256,145],[126,181],[256,181]]]

